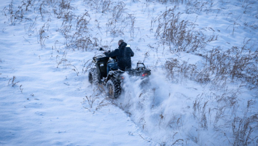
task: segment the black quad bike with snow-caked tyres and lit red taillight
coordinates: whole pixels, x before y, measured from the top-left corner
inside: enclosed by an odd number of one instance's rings
[[[102,48],[99,48],[102,51]],[[104,51],[104,50],[103,50]],[[122,70],[111,70],[107,74],[107,64],[110,62],[116,62],[116,57],[106,57],[106,55],[101,54],[98,56],[94,56],[92,62],[95,64],[89,70],[89,82],[91,84],[103,84],[106,85],[106,92],[109,98],[118,98],[122,88],[121,83],[125,76],[123,75],[125,72],[129,76],[140,76],[143,81],[146,81],[148,76],[151,74],[151,70],[147,69],[143,63],[137,63],[136,68],[131,68],[126,71]]]

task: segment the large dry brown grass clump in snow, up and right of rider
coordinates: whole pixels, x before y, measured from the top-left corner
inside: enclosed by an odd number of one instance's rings
[[[170,51],[194,52],[205,48],[205,46],[217,39],[215,35],[205,36],[203,31],[214,31],[212,28],[197,29],[195,23],[189,20],[181,20],[182,13],[176,12],[178,5],[169,8],[163,14],[157,16],[153,23],[158,23],[156,38],[163,45],[169,45]]]

